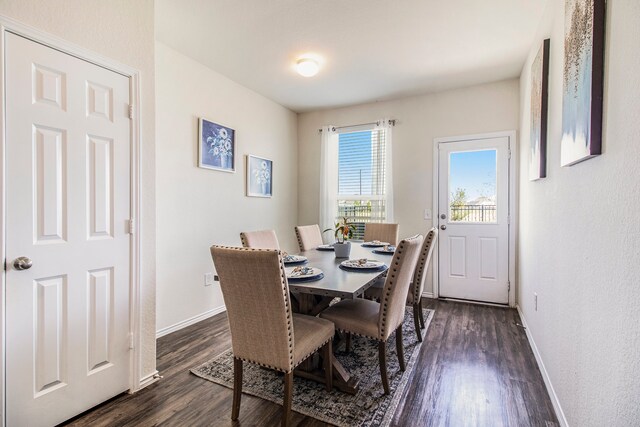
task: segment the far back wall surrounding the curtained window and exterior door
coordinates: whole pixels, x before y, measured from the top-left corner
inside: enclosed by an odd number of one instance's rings
[[[301,224],[318,222],[320,136],[323,125],[351,125],[390,117],[393,130],[395,221],[400,235],[424,234],[432,221],[433,139],[518,128],[518,80],[299,115]],[[432,292],[429,273],[425,292]]]

